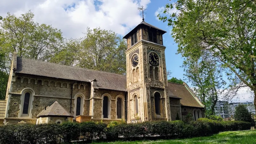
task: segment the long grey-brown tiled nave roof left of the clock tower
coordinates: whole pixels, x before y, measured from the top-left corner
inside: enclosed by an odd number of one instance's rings
[[[126,76],[124,75],[39,60],[17,57],[17,70],[15,72],[83,82],[91,82],[93,79],[96,79],[98,88],[126,91]]]

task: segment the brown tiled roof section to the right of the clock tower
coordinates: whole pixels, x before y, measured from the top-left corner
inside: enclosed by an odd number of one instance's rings
[[[168,82],[168,89],[175,96],[181,98],[181,106],[204,108],[204,105],[189,91],[185,84],[176,84]]]

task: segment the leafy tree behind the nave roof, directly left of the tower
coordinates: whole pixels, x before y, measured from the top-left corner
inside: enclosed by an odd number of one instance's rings
[[[126,73],[126,42],[111,30],[87,28],[85,37],[70,39],[52,62],[118,74]]]

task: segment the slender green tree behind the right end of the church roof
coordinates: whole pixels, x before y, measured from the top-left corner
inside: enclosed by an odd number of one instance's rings
[[[186,80],[192,83],[197,97],[206,107],[206,115],[214,115],[214,107],[218,101],[218,95],[223,92],[226,82],[222,79],[223,68],[218,63],[207,59],[207,56],[199,59],[186,59],[183,62]]]

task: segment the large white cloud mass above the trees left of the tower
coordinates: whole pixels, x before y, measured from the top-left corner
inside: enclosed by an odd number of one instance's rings
[[[86,28],[104,28],[125,35],[142,18],[137,7],[147,7],[150,0],[15,0],[1,1],[0,15],[20,16],[31,10],[34,20],[61,29],[63,36],[84,36]]]

